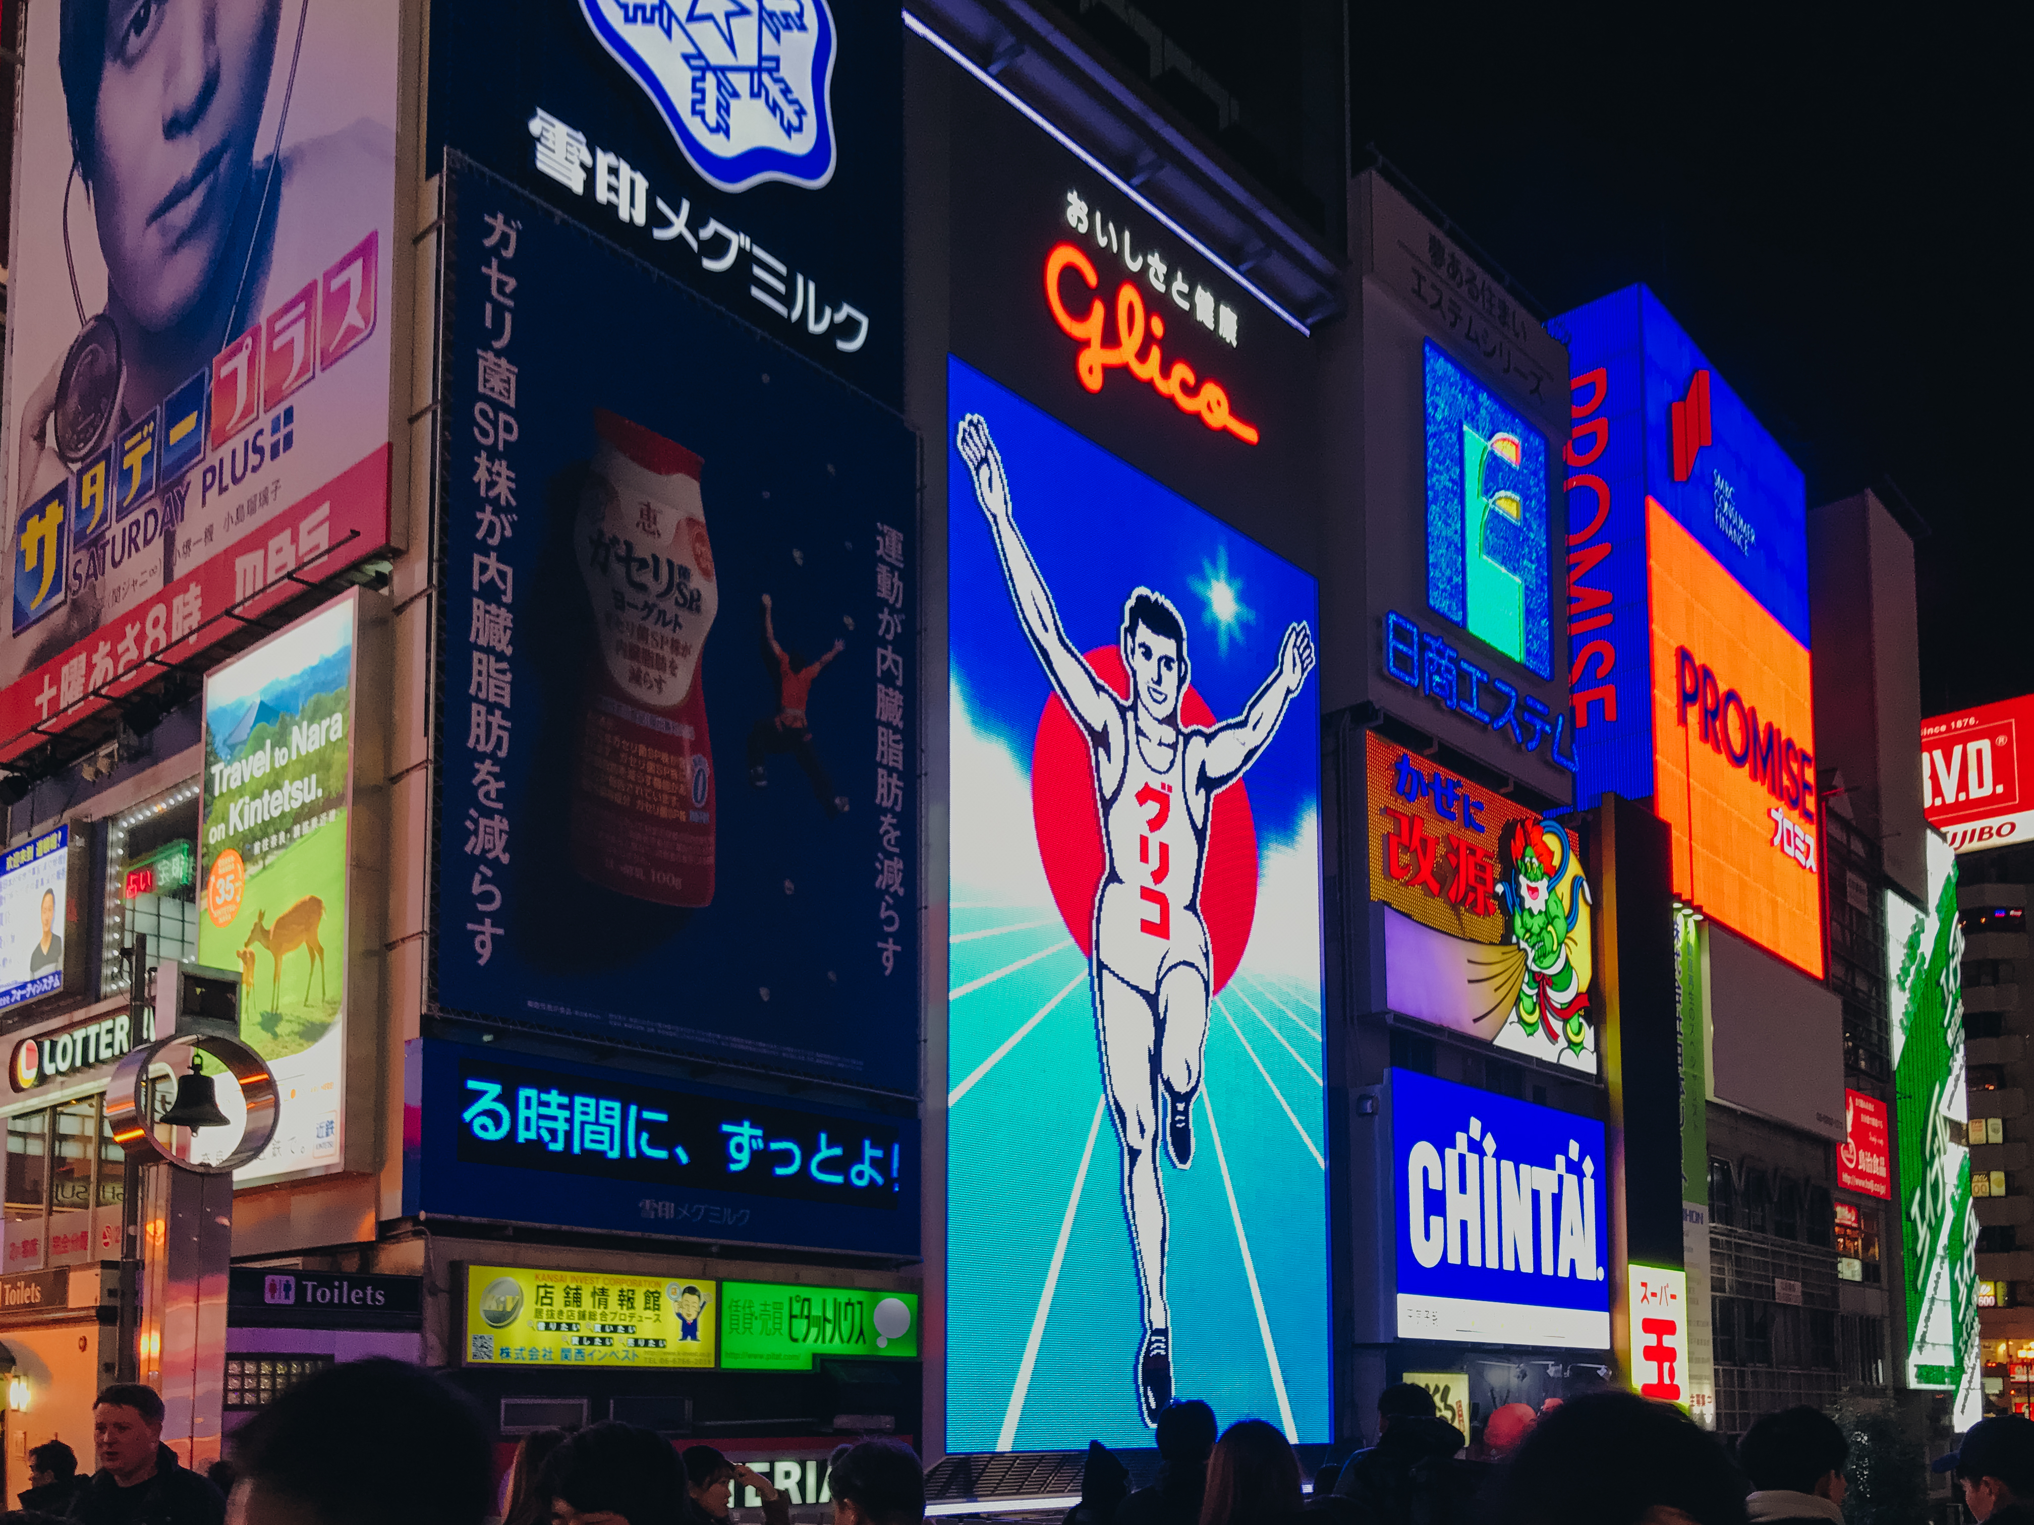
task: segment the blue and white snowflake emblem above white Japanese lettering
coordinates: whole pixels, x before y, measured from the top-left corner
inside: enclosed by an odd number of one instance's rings
[[[826,0],[580,0],[586,24],[722,191],[834,177],[834,12]]]

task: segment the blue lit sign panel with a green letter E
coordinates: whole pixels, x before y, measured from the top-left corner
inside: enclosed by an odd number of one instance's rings
[[[1426,602],[1554,675],[1546,439],[1426,344]]]

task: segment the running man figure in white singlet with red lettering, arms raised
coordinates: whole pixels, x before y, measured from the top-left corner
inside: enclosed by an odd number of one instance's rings
[[[1094,897],[1090,988],[1102,1086],[1123,1143],[1123,1214],[1143,1295],[1135,1358],[1147,1425],[1172,1401],[1172,1312],[1165,1303],[1165,1187],[1157,1163],[1159,1092],[1165,1147],[1194,1159],[1194,1098],[1208,1043],[1212,958],[1200,915],[1200,872],[1214,795],[1233,785],[1277,734],[1285,706],[1314,671],[1314,636],[1292,624],[1279,665],[1243,716],[1184,726],[1190,665],[1186,622],[1159,592],[1123,604],[1121,647],[1131,697],[1094,675],[1060,624],[1052,592],[1017,533],[1009,480],[989,423],[960,421],[960,458],[1003,561],[1011,602],[1054,691],[1086,736],[1102,817],[1102,880]]]

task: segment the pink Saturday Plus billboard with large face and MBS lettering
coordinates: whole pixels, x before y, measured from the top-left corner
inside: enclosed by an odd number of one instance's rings
[[[0,756],[388,541],[397,2],[138,14],[26,18]]]

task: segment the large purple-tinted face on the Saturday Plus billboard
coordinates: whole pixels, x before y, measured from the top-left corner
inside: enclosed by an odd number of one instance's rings
[[[108,285],[151,331],[191,315],[252,220],[254,134],[283,0],[73,0],[106,6],[85,163]]]

